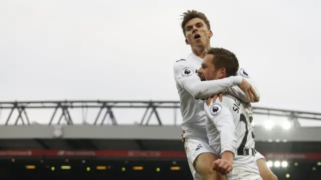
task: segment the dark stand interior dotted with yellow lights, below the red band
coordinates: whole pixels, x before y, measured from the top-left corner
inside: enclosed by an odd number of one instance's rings
[[[0,160],[2,179],[193,179],[187,161],[97,160],[65,158],[16,158]],[[54,168],[53,168],[54,167]],[[314,168],[313,168],[314,167]],[[64,169],[62,169],[64,168]],[[135,169],[134,169],[135,168]],[[172,169],[171,169],[172,168]],[[272,168],[281,179],[319,179],[321,166],[312,162],[289,162],[286,168]],[[18,172],[18,173],[17,173]],[[286,174],[289,177],[286,177]]]

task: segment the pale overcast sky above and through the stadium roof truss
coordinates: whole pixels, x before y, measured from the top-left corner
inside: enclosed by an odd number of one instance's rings
[[[178,100],[188,9],[255,77],[256,106],[320,111],[318,0],[1,0],[1,100]],[[141,117],[131,113],[118,121]]]

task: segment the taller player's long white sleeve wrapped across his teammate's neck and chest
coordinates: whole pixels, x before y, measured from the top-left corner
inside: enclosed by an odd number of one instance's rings
[[[178,60],[174,64],[175,80],[195,98],[210,97],[242,82],[242,77],[240,76],[201,81],[196,70],[184,59]]]

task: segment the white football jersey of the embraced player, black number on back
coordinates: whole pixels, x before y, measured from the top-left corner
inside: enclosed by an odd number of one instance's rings
[[[251,107],[232,95],[223,95],[209,106],[204,104],[209,144],[218,156],[225,151],[234,153],[233,170],[228,180],[261,178],[255,157],[255,141]],[[248,109],[246,109],[248,108]]]

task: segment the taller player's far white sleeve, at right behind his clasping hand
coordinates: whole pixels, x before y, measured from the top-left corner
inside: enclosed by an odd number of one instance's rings
[[[258,88],[257,88],[257,86],[256,86],[256,84],[255,84],[255,82],[253,80],[253,77],[250,77],[249,74],[247,73],[247,71],[244,70],[244,68],[240,68],[237,71],[236,75],[241,76],[246,81],[248,81],[252,85],[252,87],[255,90],[257,96],[260,97],[260,92],[259,92],[259,90],[258,90]],[[241,90],[238,86],[233,86],[233,87],[229,88],[227,90],[227,92],[235,95],[236,97],[240,98],[244,102],[249,102],[248,99],[246,98],[245,92],[243,92],[243,90]]]

